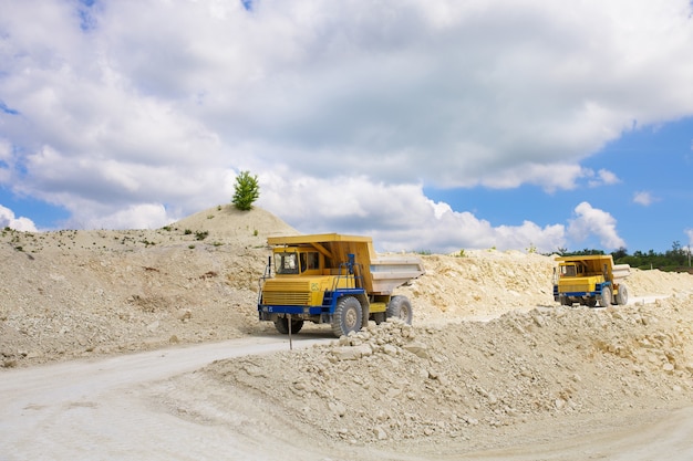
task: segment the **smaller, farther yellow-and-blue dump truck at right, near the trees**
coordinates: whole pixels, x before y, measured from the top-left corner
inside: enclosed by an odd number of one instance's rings
[[[558,256],[554,268],[554,300],[594,307],[628,303],[630,265],[614,264],[611,255]]]

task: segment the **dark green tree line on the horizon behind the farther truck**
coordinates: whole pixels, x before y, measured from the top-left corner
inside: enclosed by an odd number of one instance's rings
[[[567,249],[558,249],[558,254],[561,256],[572,255],[590,255],[590,254],[608,254],[602,250],[585,249],[580,251],[568,251]],[[671,250],[663,253],[658,253],[654,250],[650,250],[647,253],[643,251],[635,251],[633,254],[629,254],[625,248],[619,248],[612,251],[614,264],[629,264],[631,268],[638,269],[659,269],[661,271],[676,271],[693,273],[691,268],[691,247],[683,247],[681,242],[674,241]]]

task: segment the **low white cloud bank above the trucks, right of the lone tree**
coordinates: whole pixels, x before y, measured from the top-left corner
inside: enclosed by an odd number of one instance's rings
[[[552,252],[566,245],[565,227],[493,227],[470,212],[425,197],[421,185],[373,184],[366,177],[337,180],[261,177],[258,205],[280,209],[279,214],[304,232],[373,235],[385,251],[458,252],[462,249],[529,249]]]

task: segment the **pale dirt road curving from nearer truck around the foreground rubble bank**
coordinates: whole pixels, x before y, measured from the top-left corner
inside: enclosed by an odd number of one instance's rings
[[[297,337],[293,346],[301,348],[329,339],[308,335]],[[277,427],[273,427],[277,438],[268,437],[254,427],[262,420],[262,415],[257,415],[251,401],[237,399],[234,413],[229,413],[213,408],[209,399],[201,398],[186,407],[186,415],[176,415],[161,398],[155,398],[166,395],[175,400],[190,396],[189,388],[175,388],[174,384],[180,380],[168,378],[187,374],[194,387],[196,374],[192,371],[216,359],[286,348],[286,338],[251,337],[3,371],[0,460],[417,459],[346,443],[297,446],[290,437],[282,439]],[[189,408],[197,410],[192,415]],[[441,454],[436,459],[693,459],[693,407],[660,415],[658,419],[652,419],[650,413],[642,420],[611,422],[611,428],[597,437],[577,436],[556,441],[550,437],[551,428],[542,427],[537,428],[547,433],[541,444],[463,457]],[[261,427],[271,430],[272,421],[262,421]],[[464,443],[459,443],[461,452],[466,451],[462,450]]]

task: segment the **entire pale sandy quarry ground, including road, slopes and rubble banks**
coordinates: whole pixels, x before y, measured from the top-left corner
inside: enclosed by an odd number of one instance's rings
[[[0,460],[693,458],[691,275],[566,308],[549,256],[426,255],[412,327],[289,350],[255,303],[266,238],[294,232],[229,207],[3,231]]]

